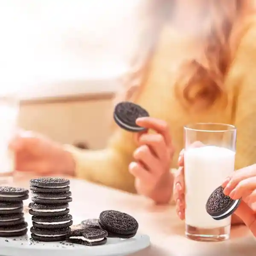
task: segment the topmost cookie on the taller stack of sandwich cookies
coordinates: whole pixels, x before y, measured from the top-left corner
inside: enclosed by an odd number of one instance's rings
[[[30,180],[30,186],[44,189],[63,189],[67,188],[70,180],[64,178],[38,178]]]

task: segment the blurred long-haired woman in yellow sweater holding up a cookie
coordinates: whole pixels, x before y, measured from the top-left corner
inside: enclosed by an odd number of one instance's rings
[[[26,132],[10,145],[16,169],[74,175],[166,203],[172,196],[169,169],[176,168],[183,148],[183,126],[194,122],[236,125],[236,169],[256,161],[253,1],[150,2],[151,29],[140,48],[146,57],[136,62],[140,65],[128,79],[126,99],[148,110],[152,118],[138,124],[155,133],[135,138],[116,128],[108,146],[93,151]]]

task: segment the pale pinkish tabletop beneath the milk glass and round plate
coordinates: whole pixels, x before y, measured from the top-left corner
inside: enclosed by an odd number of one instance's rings
[[[15,186],[29,187],[31,175],[15,176]],[[133,256],[255,256],[256,239],[245,226],[232,227],[224,242],[197,242],[184,236],[184,222],[177,218],[175,207],[155,206],[139,196],[106,188],[84,180],[70,179],[73,202],[70,213],[79,219],[97,218],[106,209],[127,212],[139,222],[139,232],[150,236],[151,247]],[[24,204],[28,204],[29,200]],[[76,224],[76,223],[74,223]],[[79,223],[77,223],[79,224]]]

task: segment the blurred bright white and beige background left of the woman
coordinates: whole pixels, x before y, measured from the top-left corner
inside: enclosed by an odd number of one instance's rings
[[[61,143],[105,146],[112,98],[140,38],[143,2],[1,1],[0,93],[18,92],[21,128]]]

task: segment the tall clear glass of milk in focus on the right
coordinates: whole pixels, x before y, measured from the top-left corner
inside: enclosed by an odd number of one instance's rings
[[[197,241],[223,241],[230,237],[231,217],[214,220],[206,212],[209,195],[234,172],[236,128],[198,123],[185,130],[186,237]]]

